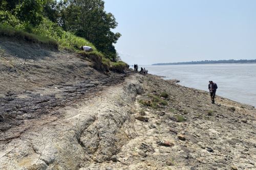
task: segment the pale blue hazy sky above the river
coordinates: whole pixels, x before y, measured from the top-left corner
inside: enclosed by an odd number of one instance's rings
[[[129,64],[256,59],[255,0],[104,0]]]

